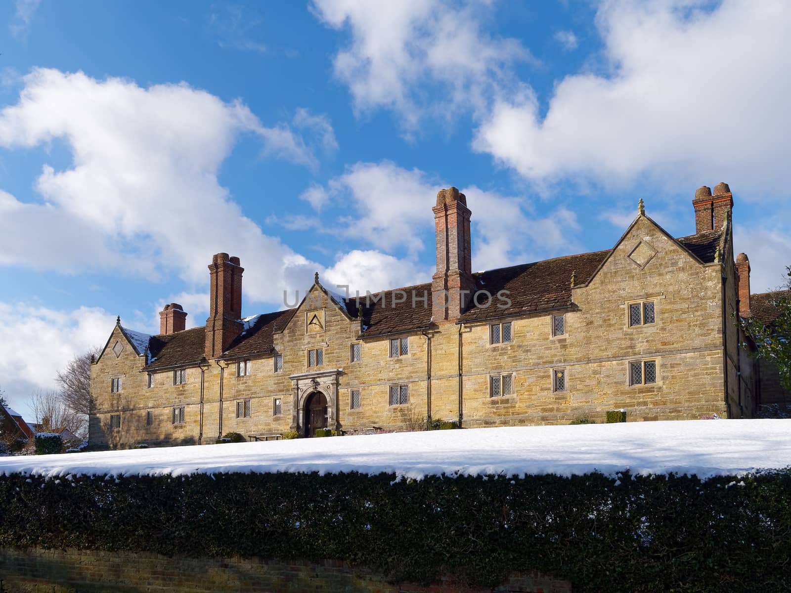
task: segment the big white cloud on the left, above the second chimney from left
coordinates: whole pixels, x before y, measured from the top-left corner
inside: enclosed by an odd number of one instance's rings
[[[297,111],[295,127],[326,120]],[[243,265],[245,293],[279,302],[316,265],[266,236],[218,183],[218,169],[240,134],[264,150],[314,165],[290,126],[264,127],[244,104],[224,103],[188,85],[98,81],[82,73],[34,70],[16,105],[0,111],[0,145],[32,147],[62,139],[73,164],[44,164],[35,187],[43,202],[0,194],[0,263],[77,273],[121,270],[156,280],[174,272],[205,285],[211,255],[228,251]],[[266,257],[262,257],[266,254]]]

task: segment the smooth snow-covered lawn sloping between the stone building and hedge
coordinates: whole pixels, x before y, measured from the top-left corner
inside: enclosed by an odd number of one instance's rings
[[[437,474],[697,474],[791,466],[791,420],[693,420],[611,425],[396,432],[267,443],[0,457],[3,474],[220,472]]]

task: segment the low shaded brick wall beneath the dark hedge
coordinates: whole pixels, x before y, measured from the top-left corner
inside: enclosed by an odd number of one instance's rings
[[[93,550],[0,550],[2,590],[66,591],[347,591],[348,593],[477,593],[452,580],[424,587],[388,584],[343,562],[267,561],[260,558],[186,558]],[[570,593],[571,584],[536,572],[515,573],[494,591]]]

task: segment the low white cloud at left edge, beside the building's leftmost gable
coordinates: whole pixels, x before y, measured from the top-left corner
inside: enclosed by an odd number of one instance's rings
[[[55,376],[77,354],[103,347],[115,315],[100,308],[58,311],[0,302],[0,387],[11,406],[27,412],[36,389],[55,388]]]

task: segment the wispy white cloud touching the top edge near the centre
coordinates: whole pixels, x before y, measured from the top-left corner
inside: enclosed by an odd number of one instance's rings
[[[532,60],[517,40],[483,31],[488,3],[314,0],[312,6],[324,25],[350,30],[350,44],[333,67],[355,108],[392,109],[407,130],[425,115],[450,118],[483,108],[495,89],[511,84],[513,62]]]

